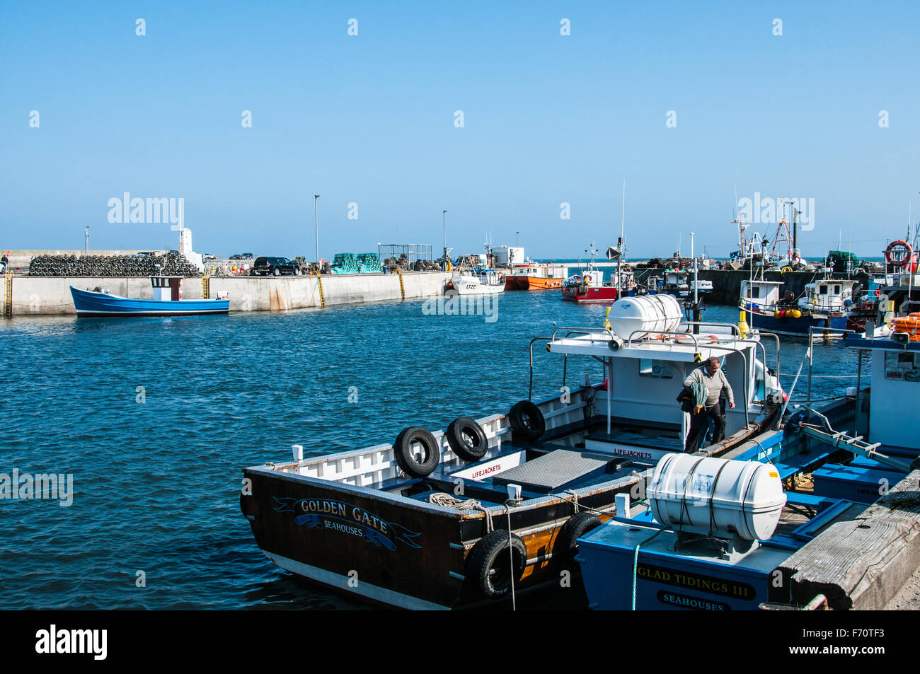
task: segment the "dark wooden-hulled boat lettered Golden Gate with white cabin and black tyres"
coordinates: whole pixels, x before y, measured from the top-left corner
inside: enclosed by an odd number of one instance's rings
[[[755,440],[779,414],[759,336],[681,325],[672,297],[619,300],[604,327],[559,327],[530,340],[531,354],[540,341],[562,357],[561,396],[533,402],[531,358],[528,397],[508,412],[433,432],[410,425],[392,443],[316,458],[295,445],[293,460],[245,468],[240,506],[259,548],[298,576],[388,605],[513,601],[577,574],[575,541],[615,514],[637,467],[683,450],[675,394],[700,359],[724,361],[739,401],[707,454]],[[603,371],[572,382],[575,361]]]

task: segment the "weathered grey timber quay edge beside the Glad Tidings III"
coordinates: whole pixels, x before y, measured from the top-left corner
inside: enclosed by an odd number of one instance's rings
[[[835,522],[779,566],[788,600],[815,595],[834,610],[880,610],[920,568],[920,471],[855,520]]]

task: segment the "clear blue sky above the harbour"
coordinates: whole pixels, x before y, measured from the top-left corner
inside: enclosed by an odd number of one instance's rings
[[[199,252],[312,259],[319,194],[321,257],[438,249],[444,209],[454,255],[520,232],[528,255],[578,257],[615,243],[626,179],[631,257],[688,253],[691,231],[726,256],[736,189],[813,199],[806,256],[841,235],[875,256],[911,200],[920,220],[918,19],[914,1],[4,2],[0,247],[82,248],[86,225],[91,248],[178,247],[168,224],[109,223],[129,192],[184,199]]]

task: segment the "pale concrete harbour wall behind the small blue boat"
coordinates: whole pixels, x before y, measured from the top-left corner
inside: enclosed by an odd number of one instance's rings
[[[452,276],[443,271],[404,271],[402,288],[394,274],[324,274],[323,299],[327,306],[383,302],[440,295]],[[147,277],[13,277],[13,315],[75,314],[70,286],[80,290],[102,288],[113,295],[153,299]],[[322,305],[316,276],[211,277],[210,295],[226,292],[230,311],[287,311]],[[6,290],[6,289],[4,289]],[[4,294],[6,297],[6,293]],[[182,298],[201,299],[201,278],[182,281]]]

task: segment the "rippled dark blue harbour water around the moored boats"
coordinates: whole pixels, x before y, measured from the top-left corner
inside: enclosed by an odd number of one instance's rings
[[[240,469],[286,460],[293,443],[357,449],[408,425],[504,412],[527,396],[529,339],[554,322],[600,326],[605,310],[557,291],[505,293],[494,322],[423,305],[0,323],[0,473],[74,476],[67,508],[0,499],[0,608],[362,607],[259,551],[239,511]],[[804,351],[784,341],[782,370],[794,374]],[[842,345],[816,351],[816,374],[855,373]],[[535,394],[558,394],[561,358],[542,343],[534,354]],[[583,371],[600,376],[584,360],[569,384]],[[852,383],[816,380],[813,394]]]

